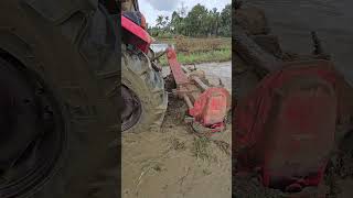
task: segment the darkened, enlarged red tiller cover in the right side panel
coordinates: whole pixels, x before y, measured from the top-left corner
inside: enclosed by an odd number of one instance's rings
[[[257,169],[264,186],[286,193],[318,186],[334,145],[336,79],[325,61],[267,75],[236,110],[238,170]]]

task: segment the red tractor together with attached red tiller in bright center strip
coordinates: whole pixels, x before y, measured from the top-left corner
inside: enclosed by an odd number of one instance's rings
[[[222,131],[231,108],[231,97],[221,86],[211,86],[201,70],[191,72],[176,61],[169,47],[156,55],[150,48],[152,38],[146,30],[146,19],[138,1],[122,1],[121,28],[121,95],[125,108],[121,114],[124,132],[159,130],[168,107],[164,80],[157,59],[167,54],[175,84],[173,92],[185,101],[194,127],[210,132]],[[201,128],[194,128],[201,129]]]

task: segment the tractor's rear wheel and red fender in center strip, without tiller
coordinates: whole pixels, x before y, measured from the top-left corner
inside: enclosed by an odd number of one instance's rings
[[[150,61],[152,40],[137,1],[122,1],[121,14],[121,130],[141,132],[159,129],[168,106],[161,73]]]

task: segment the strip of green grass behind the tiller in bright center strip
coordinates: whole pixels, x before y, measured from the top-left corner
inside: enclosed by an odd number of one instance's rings
[[[232,59],[232,50],[224,48],[220,51],[208,51],[208,52],[195,52],[195,53],[178,53],[178,61],[182,65],[188,64],[201,64],[211,62],[228,62]],[[163,66],[168,65],[167,57],[160,58],[160,64]]]

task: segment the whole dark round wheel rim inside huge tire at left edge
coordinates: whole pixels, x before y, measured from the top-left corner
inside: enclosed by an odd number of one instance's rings
[[[53,174],[65,140],[51,91],[12,61],[0,58],[1,198],[25,195],[43,184]]]

